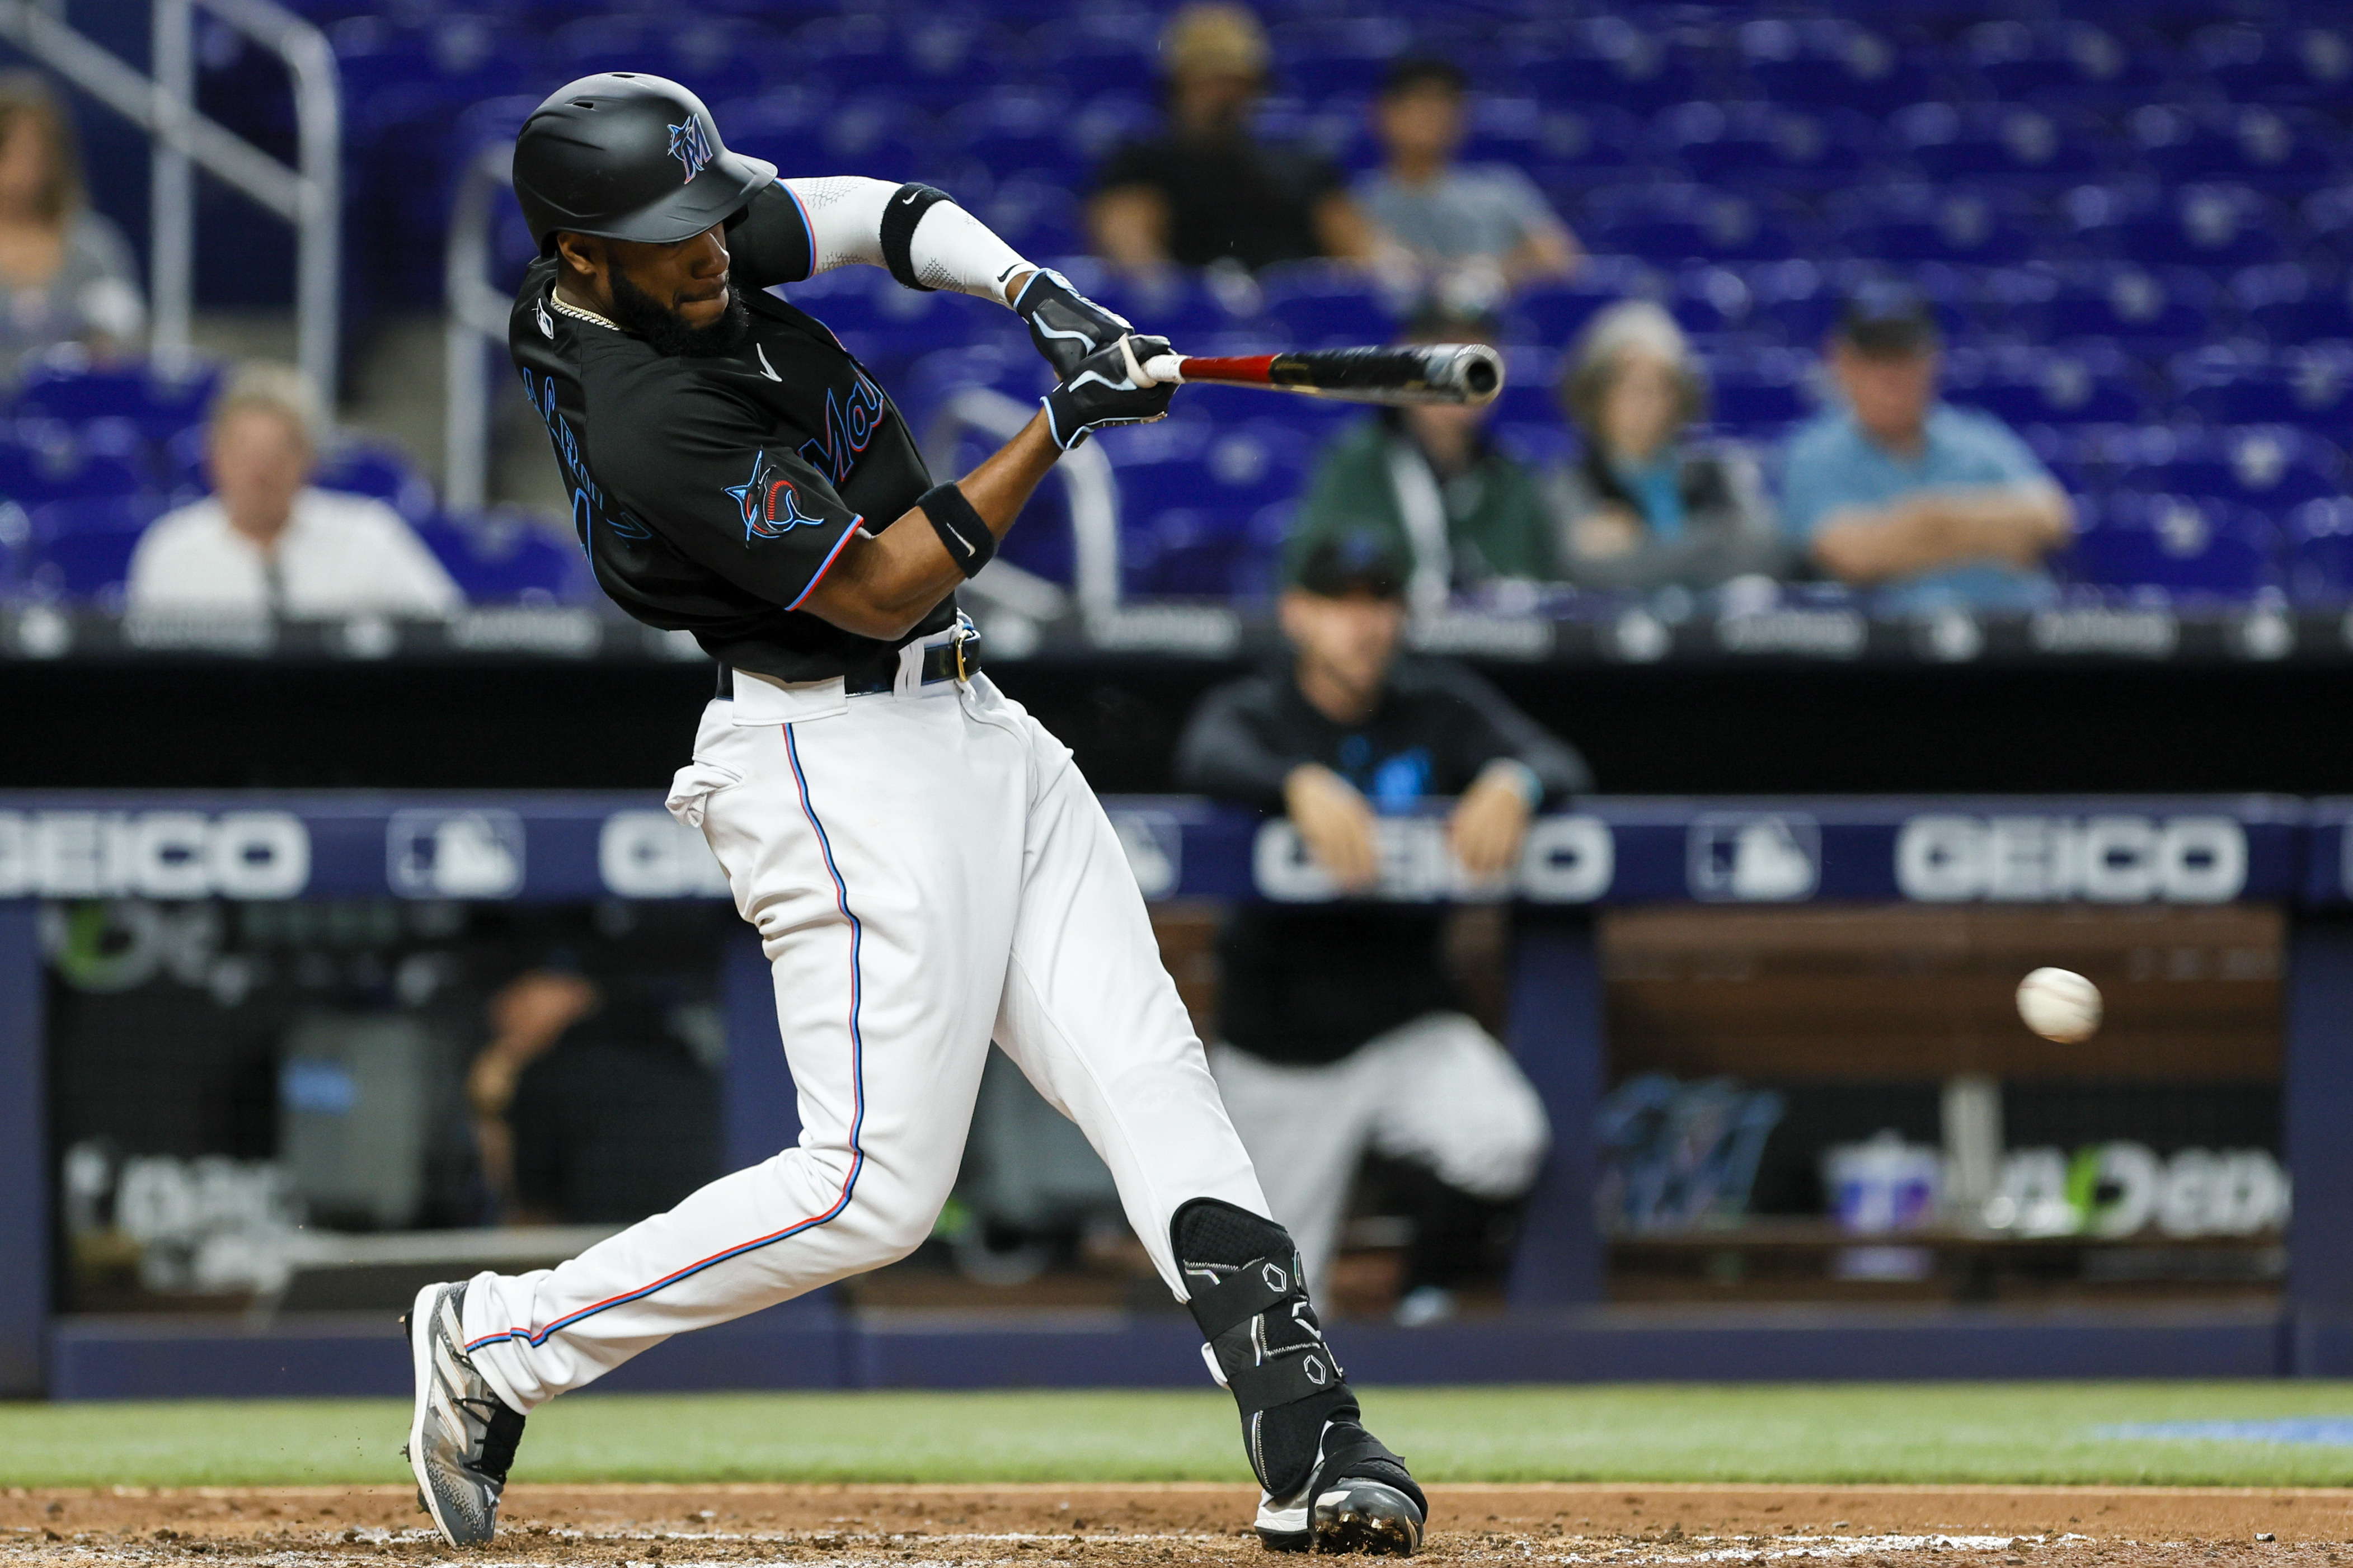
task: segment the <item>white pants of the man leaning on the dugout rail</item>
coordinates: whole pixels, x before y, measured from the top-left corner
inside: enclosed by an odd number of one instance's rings
[[[1464,1013],[1424,1013],[1320,1067],[1226,1044],[1209,1065],[1271,1215],[1299,1244],[1308,1293],[1329,1284],[1365,1150],[1421,1161],[1449,1187],[1501,1201],[1527,1192],[1553,1143],[1534,1084]]]

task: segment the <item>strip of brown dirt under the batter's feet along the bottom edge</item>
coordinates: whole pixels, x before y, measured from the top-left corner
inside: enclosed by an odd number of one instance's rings
[[[515,1486],[485,1563],[1266,1561],[1238,1486]],[[454,1561],[398,1488],[0,1495],[0,1568]],[[475,1556],[475,1554],[468,1554]],[[1433,1486],[1435,1563],[2353,1563],[2353,1490]]]

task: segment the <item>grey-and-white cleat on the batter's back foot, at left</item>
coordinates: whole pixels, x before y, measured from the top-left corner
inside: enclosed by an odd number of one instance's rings
[[[452,1547],[485,1547],[499,1528],[499,1493],[522,1441],[522,1415],[466,1359],[459,1316],[466,1286],[426,1286],[400,1319],[416,1366],[416,1408],[400,1455],[416,1472],[416,1502]]]

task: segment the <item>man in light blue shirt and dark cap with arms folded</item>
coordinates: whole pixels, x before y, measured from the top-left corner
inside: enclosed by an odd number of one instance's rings
[[[2026,607],[2049,597],[2042,557],[2075,508],[2009,425],[1937,400],[1939,334],[1904,284],[1847,301],[1831,339],[1845,395],[1788,440],[1781,520],[1833,578],[1897,607]]]

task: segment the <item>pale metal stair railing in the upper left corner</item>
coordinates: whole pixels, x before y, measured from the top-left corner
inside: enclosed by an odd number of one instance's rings
[[[327,35],[273,0],[151,0],[153,68],[141,75],[64,21],[61,5],[0,0],[0,38],[153,139],[148,331],[158,360],[188,355],[195,299],[195,179],[205,169],[294,226],[294,336],[332,402],[341,364],[344,87]],[[294,78],[296,167],[195,110],[195,7],[261,45]]]

